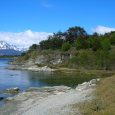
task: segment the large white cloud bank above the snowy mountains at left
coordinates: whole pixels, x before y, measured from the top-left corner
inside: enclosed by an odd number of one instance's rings
[[[9,44],[16,45],[19,48],[28,48],[32,44],[38,44],[41,40],[47,39],[52,33],[46,32],[33,32],[27,30],[24,32],[0,32],[0,41],[6,41]]]

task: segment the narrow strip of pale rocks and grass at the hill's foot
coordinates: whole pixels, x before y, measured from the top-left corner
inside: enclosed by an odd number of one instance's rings
[[[63,72],[63,73],[87,73],[87,74],[110,74],[109,76],[115,74],[114,70],[88,70],[88,69],[76,69],[76,68],[50,68],[48,66],[38,67],[36,65],[25,66],[25,65],[12,65],[8,67],[11,70],[28,70],[34,72]]]

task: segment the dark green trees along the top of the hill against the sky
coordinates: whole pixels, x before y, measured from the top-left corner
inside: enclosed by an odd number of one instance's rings
[[[110,50],[112,45],[115,45],[115,32],[104,35],[97,33],[89,35],[84,28],[75,26],[70,27],[65,32],[53,33],[47,40],[41,41],[39,45],[33,44],[29,50],[61,49],[68,51],[71,47],[75,47],[76,50],[92,49],[97,51],[98,49]]]

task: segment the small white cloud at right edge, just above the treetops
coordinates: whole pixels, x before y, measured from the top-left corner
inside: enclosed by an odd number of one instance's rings
[[[115,28],[105,27],[105,26],[97,26],[93,29],[93,32],[97,32],[98,34],[105,34],[111,31],[115,31]]]

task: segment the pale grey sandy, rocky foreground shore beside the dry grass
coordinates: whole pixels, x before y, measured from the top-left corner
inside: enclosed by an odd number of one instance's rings
[[[95,84],[83,83],[76,89],[66,86],[31,88],[8,101],[0,115],[80,115],[74,104],[92,98]]]

